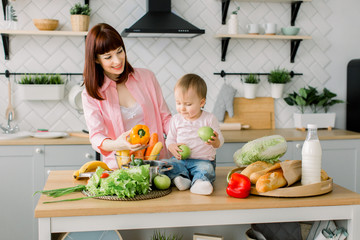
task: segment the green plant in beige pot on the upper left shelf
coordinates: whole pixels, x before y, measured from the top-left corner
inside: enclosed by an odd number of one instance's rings
[[[88,4],[76,3],[70,8],[72,30],[83,32],[89,29],[91,9]]]

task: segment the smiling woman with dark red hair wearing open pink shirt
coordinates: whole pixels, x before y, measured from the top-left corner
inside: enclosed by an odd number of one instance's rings
[[[90,142],[110,168],[118,167],[113,151],[146,147],[126,140],[137,124],[157,132],[164,144],[171,113],[160,85],[151,71],[130,65],[120,34],[108,24],[97,24],[88,32],[84,84],[82,102]],[[166,157],[163,149],[160,158]]]

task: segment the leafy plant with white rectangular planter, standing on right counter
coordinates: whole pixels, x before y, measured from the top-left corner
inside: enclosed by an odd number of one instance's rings
[[[296,106],[300,111],[300,113],[294,113],[296,128],[305,129],[307,124],[316,124],[318,128],[331,129],[335,126],[336,113],[329,113],[329,108],[344,102],[334,99],[336,96],[327,88],[319,93],[316,88],[308,86],[300,88],[298,93],[289,93],[284,100],[288,105]]]

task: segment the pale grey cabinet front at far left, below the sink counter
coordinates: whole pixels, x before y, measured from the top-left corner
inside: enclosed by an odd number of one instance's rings
[[[1,239],[37,239],[34,209],[42,186],[43,146],[0,146]]]

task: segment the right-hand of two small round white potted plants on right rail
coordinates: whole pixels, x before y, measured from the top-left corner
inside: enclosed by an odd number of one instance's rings
[[[271,87],[271,97],[281,98],[284,86],[286,83],[291,81],[290,73],[285,68],[275,68],[268,75],[268,82]]]

